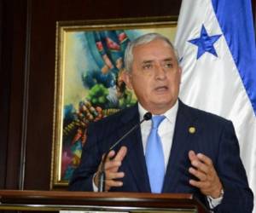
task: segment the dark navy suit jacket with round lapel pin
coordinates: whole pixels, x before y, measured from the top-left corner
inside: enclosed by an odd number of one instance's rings
[[[106,153],[122,135],[139,122],[137,105],[90,124],[81,163],[73,173],[69,189],[93,191],[92,177]],[[195,133],[189,133],[195,127]],[[126,137],[120,146],[128,153],[119,170],[125,172],[123,187],[112,187],[112,192],[150,193],[148,172],[143,154],[141,131],[138,128]],[[189,150],[204,153],[212,159],[224,185],[224,199],[216,212],[252,212],[253,193],[248,187],[247,176],[241,163],[239,145],[233,124],[211,113],[188,107],[179,101],[171,155],[166,168],[162,193],[194,193],[207,205],[200,190],[189,185]]]

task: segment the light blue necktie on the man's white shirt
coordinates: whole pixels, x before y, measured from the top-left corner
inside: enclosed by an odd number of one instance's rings
[[[152,193],[161,193],[165,178],[165,157],[158,135],[158,127],[165,118],[160,115],[152,118],[152,128],[146,146],[146,163]]]

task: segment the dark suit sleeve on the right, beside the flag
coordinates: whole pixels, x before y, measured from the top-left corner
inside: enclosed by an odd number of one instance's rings
[[[246,170],[240,158],[240,150],[234,126],[224,125],[219,139],[216,170],[224,186],[224,199],[214,212],[243,212],[253,210],[253,193],[248,187]]]

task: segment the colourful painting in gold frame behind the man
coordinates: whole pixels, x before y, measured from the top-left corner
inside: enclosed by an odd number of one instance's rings
[[[57,22],[51,188],[67,187],[90,122],[136,102],[122,80],[127,43],[148,32],[173,41],[176,28],[171,16]]]

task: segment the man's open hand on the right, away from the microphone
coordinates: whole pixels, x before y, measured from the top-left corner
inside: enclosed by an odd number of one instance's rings
[[[219,198],[223,186],[211,158],[202,153],[195,154],[190,150],[189,160],[193,166],[189,168],[189,173],[198,178],[198,181],[189,180],[189,184],[198,187],[206,196],[211,196],[213,199]]]

